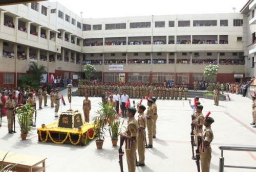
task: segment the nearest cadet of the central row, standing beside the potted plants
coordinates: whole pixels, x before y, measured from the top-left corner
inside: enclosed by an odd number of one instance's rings
[[[137,149],[138,122],[134,118],[135,113],[136,109],[134,107],[127,109],[127,117],[129,117],[128,125],[125,134],[120,134],[121,137],[126,139],[125,154],[129,172],[135,172],[136,168],[135,156]]]

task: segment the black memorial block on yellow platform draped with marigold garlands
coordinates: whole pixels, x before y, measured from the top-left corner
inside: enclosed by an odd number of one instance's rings
[[[96,132],[94,132],[94,124],[82,121],[79,111],[66,111],[59,115],[58,122],[41,125],[37,133],[40,142],[83,146],[94,139]]]

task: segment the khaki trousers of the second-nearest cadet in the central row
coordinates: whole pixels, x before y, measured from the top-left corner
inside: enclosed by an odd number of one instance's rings
[[[145,139],[146,139],[146,131],[139,131],[138,134],[138,154],[139,154],[139,163],[145,163]]]

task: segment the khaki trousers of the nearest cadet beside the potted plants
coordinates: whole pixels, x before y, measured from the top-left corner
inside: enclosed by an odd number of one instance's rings
[[[129,172],[135,172],[135,156],[136,156],[136,149],[137,149],[137,142],[131,143],[131,150],[125,150],[126,160],[128,165]]]

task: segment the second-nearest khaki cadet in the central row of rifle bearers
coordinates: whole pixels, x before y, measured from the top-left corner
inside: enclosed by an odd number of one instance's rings
[[[144,105],[139,105],[138,107],[138,154],[139,162],[136,166],[145,166],[145,139],[146,139],[146,115],[144,114],[146,107]]]

